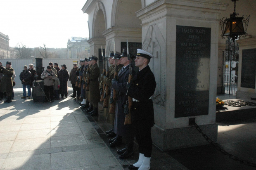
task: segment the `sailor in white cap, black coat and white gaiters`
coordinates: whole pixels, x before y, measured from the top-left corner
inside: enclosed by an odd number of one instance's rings
[[[135,66],[139,71],[133,77],[133,83],[127,83],[127,95],[133,97],[131,108],[132,123],[135,125],[135,137],[139,144],[139,160],[129,165],[132,170],[149,170],[152,153],[151,127],[154,125],[154,108],[151,96],[156,88],[154,74],[148,64],[152,54],[137,49]],[[129,111],[128,111],[129,112]],[[125,111],[125,113],[127,113]]]

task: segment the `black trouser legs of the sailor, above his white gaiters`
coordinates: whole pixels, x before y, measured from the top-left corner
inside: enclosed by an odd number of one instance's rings
[[[146,129],[136,128],[135,137],[139,144],[139,152],[144,154],[145,157],[151,157],[152,153],[152,138],[151,127]]]

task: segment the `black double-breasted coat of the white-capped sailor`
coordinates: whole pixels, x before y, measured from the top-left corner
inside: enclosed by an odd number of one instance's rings
[[[133,84],[127,94],[140,101],[133,102],[131,108],[132,123],[135,127],[148,128],[154,125],[154,107],[151,96],[155,89],[156,80],[149,66],[138,71],[133,77]]]

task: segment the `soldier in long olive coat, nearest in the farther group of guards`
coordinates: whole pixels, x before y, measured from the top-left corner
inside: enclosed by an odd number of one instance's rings
[[[98,116],[98,102],[100,102],[100,84],[98,78],[100,77],[100,69],[97,64],[98,57],[92,56],[90,59],[91,67],[86,72],[85,77],[88,78],[89,83],[89,100],[91,106],[86,109],[91,116]]]

